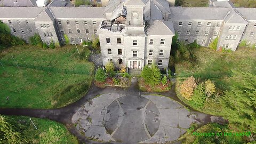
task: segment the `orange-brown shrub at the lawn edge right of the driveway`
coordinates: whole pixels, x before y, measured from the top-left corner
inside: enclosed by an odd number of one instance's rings
[[[188,77],[181,85],[180,85],[180,94],[187,100],[190,100],[192,95],[194,94],[194,90],[196,88],[196,81],[193,76]]]

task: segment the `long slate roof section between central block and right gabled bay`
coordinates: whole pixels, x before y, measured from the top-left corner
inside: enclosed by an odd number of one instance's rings
[[[170,7],[169,19],[223,20],[230,8],[226,7]]]

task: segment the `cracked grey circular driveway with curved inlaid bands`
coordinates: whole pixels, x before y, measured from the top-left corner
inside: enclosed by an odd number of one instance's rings
[[[159,95],[101,94],[72,118],[76,129],[97,141],[164,143],[175,141],[190,124],[189,111]]]

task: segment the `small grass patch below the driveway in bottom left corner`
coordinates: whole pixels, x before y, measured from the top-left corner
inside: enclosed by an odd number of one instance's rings
[[[14,125],[14,129],[21,133],[21,137],[28,143],[60,143],[78,144],[78,140],[71,135],[65,125],[48,119],[31,118],[38,130],[30,122],[30,117],[25,116],[4,116],[4,118]]]

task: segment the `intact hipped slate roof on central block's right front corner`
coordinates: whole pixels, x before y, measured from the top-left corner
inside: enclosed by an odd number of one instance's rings
[[[150,21],[146,33],[147,35],[175,35],[173,23],[162,20]]]

